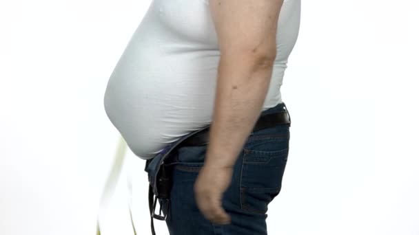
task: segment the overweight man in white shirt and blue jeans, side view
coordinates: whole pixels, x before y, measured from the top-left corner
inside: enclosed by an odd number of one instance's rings
[[[177,150],[164,209],[171,235],[267,234],[289,148],[280,86],[299,23],[300,0],[152,2],[110,78],[105,110],[143,159],[210,124],[208,144]],[[284,122],[255,129],[274,113]]]

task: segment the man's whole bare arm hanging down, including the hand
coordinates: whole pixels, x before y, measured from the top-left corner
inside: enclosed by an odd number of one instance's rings
[[[221,200],[263,109],[282,4],[283,0],[210,0],[221,58],[210,142],[194,194],[199,210],[212,223],[231,223]]]

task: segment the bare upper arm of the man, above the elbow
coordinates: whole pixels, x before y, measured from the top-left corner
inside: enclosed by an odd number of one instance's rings
[[[276,56],[283,0],[210,0],[221,55]]]

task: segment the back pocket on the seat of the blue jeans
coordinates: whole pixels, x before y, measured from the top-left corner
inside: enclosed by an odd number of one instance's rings
[[[267,205],[280,192],[289,148],[286,138],[258,142],[263,143],[258,143],[254,149],[245,148],[243,152],[240,203],[242,210],[265,214]]]

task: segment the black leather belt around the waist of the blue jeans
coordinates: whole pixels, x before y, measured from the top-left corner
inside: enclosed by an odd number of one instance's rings
[[[280,124],[291,124],[291,119],[289,118],[289,114],[287,111],[261,115],[259,119],[256,121],[252,133],[264,128],[269,128]],[[207,128],[204,128],[203,130],[183,140],[183,142],[179,144],[179,148],[182,146],[206,145],[208,144],[208,142],[210,142],[210,126],[207,126]]]

